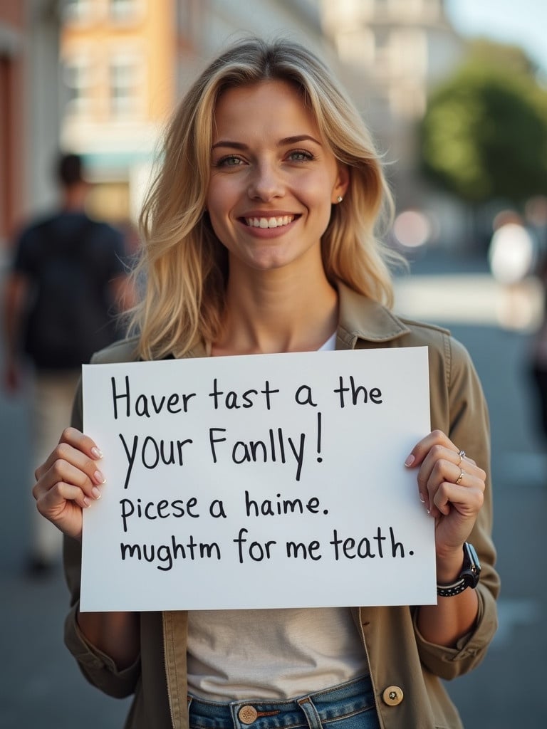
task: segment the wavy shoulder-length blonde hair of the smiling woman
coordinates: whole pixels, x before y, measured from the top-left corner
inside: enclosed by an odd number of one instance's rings
[[[349,168],[346,197],[333,206],[322,236],[327,277],[392,305],[391,254],[376,235],[382,213],[392,212],[392,198],[359,112],[322,61],[300,44],[245,39],[203,71],[168,125],[160,168],[141,213],[144,246],[134,272],[137,279],[146,278],[131,321],[143,359],[181,356],[199,340],[218,337],[228,257],[204,214],[214,109],[224,90],[265,79],[300,90],[323,139]]]

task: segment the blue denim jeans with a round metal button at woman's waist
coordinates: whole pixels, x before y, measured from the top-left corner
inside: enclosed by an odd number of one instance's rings
[[[290,701],[203,701],[188,696],[190,729],[379,729],[368,677]]]

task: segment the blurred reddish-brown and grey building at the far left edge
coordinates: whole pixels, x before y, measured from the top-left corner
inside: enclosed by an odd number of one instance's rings
[[[55,200],[59,24],[56,0],[0,3],[0,256],[23,219]]]

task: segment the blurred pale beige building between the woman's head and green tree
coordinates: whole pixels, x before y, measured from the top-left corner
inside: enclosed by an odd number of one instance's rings
[[[465,52],[443,0],[320,0],[346,84],[385,154],[400,207],[423,202],[416,124],[431,88]],[[392,172],[390,169],[392,168]]]

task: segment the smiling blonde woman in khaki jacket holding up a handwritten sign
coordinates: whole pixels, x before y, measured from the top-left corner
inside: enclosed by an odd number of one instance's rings
[[[135,694],[127,727],[461,726],[440,679],[476,666],[496,628],[489,426],[464,348],[387,308],[375,228],[389,204],[359,114],[297,44],[236,44],[179,106],[141,219],[138,333],[94,361],[427,346],[434,430],[406,466],[435,519],[441,596],[422,607],[80,613],[82,509],[108,485],[99,444],[79,430],[79,396],[34,496],[66,535],[66,642],[90,682]]]

